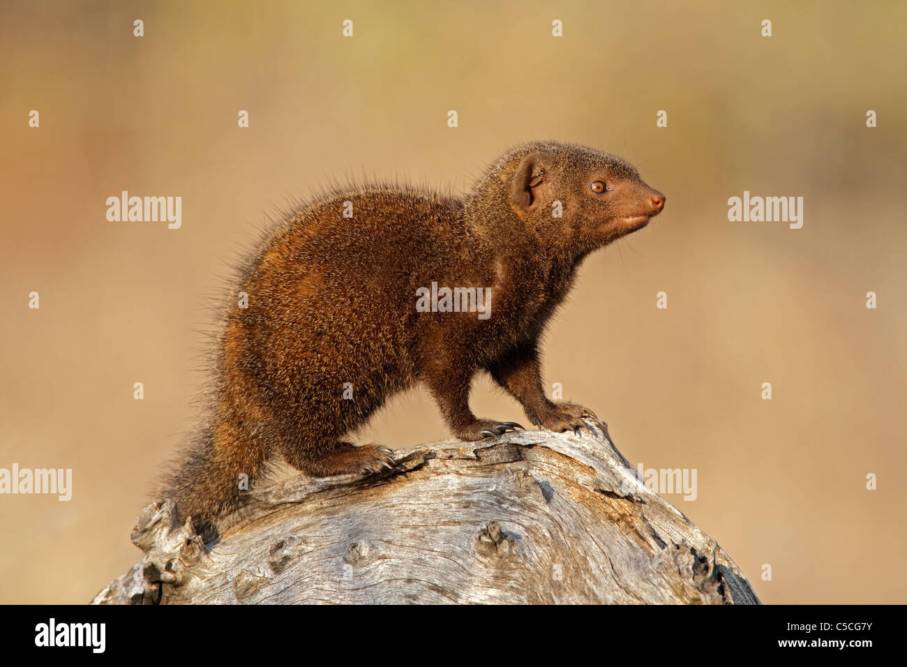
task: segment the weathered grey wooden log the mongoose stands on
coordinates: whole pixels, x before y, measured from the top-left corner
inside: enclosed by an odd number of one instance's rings
[[[736,564],[596,435],[399,449],[378,476],[253,490],[219,541],[149,505],[93,603],[759,603]],[[259,485],[263,486],[263,485]]]

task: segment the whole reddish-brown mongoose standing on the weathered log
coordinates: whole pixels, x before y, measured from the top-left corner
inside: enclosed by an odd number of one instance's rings
[[[592,191],[592,181],[609,190]],[[555,200],[561,218],[551,215]],[[353,202],[352,219],[342,217],[344,201]],[[534,142],[503,154],[463,198],[338,188],[300,207],[241,272],[237,291],[248,292],[249,308],[234,301],[229,310],[210,423],[171,480],[180,513],[210,525],[238,499],[239,474],[256,476],[277,453],[313,476],[390,466],[387,450],[342,438],[417,382],[463,440],[513,427],[473,416],[480,370],[533,424],[583,426],[589,410],[545,397],[541,331],[580,261],[663,205],[619,158]],[[416,289],[432,281],[492,288],[491,317],[417,312]]]

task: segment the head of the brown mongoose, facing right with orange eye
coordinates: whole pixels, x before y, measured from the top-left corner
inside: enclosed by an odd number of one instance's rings
[[[501,164],[510,207],[543,239],[581,253],[645,227],[666,198],[629,162],[575,144],[523,146]],[[503,180],[503,179],[502,179]]]

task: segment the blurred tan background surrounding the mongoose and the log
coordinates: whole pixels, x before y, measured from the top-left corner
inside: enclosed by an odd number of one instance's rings
[[[766,603],[907,602],[907,5],[324,5],[0,7],[0,466],[74,477],[69,503],[0,496],[0,602],[83,603],[138,559],[204,381],[204,297],[266,214],[364,169],[463,191],[549,138],[623,154],[668,206],[587,260],[546,381],[631,462],[697,468],[697,500],[668,499]],[[182,229],[106,221],[122,190],[180,195]],[[803,229],[727,221],[744,190],[803,196]],[[486,379],[473,408],[522,418]],[[362,438],[446,435],[416,391]]]

